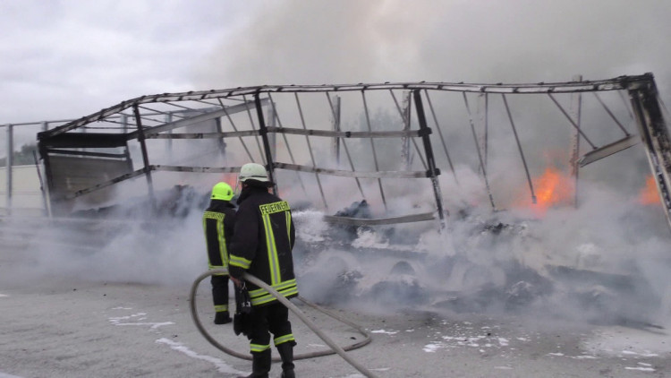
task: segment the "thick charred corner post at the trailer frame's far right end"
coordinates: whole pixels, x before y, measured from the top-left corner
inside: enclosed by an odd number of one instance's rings
[[[671,140],[658,103],[658,92],[650,74],[650,83],[629,89],[636,125],[641,133],[652,176],[671,228]]]

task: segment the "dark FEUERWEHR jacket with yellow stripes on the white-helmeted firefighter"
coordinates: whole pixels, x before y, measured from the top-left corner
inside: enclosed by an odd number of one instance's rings
[[[229,272],[236,279],[248,271],[287,298],[298,296],[293,274],[295,229],[289,204],[264,187],[248,186],[238,198]],[[248,284],[251,305],[277,300],[267,290]]]

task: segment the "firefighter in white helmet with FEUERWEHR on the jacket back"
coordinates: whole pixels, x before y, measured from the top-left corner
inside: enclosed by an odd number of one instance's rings
[[[266,282],[286,298],[298,296],[293,275],[293,228],[291,209],[268,188],[266,168],[256,163],[242,166],[239,183],[242,191],[238,197],[235,215],[235,232],[230,248],[229,271],[236,285],[242,274]],[[271,365],[270,334],[282,358],[282,377],[293,378],[293,339],[289,310],[267,290],[247,283],[251,297],[250,339],[252,373],[244,378],[267,378]]]

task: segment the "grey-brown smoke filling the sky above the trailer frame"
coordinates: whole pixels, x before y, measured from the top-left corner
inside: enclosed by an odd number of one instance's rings
[[[652,72],[662,91],[670,91],[671,5],[663,2],[288,0],[266,5],[200,64],[197,87],[564,82],[575,74],[596,80]]]

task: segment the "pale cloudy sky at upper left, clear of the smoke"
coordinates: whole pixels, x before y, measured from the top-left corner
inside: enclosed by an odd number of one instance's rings
[[[242,3],[0,0],[0,124],[197,90],[194,67],[250,15]]]

